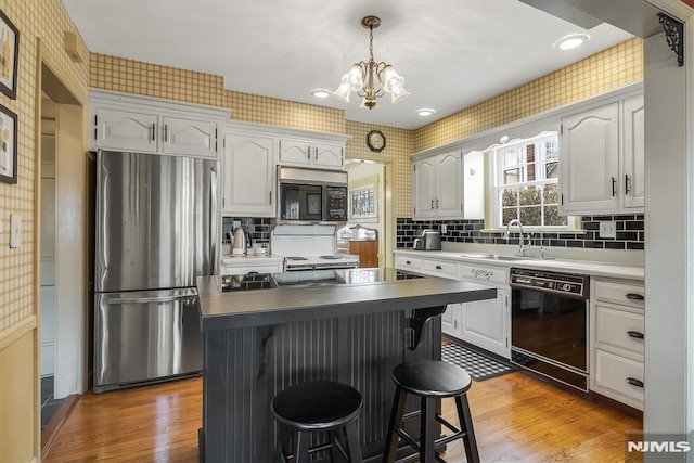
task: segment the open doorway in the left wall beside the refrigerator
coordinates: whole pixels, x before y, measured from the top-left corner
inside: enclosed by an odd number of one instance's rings
[[[86,390],[83,106],[41,62],[37,89],[37,292],[41,428],[62,399]]]

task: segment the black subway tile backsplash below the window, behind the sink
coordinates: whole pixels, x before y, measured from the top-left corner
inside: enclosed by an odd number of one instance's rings
[[[600,237],[600,222],[615,221],[616,234],[614,239]],[[644,216],[634,215],[604,215],[584,216],[581,218],[584,232],[581,233],[543,233],[545,247],[574,247],[586,249],[643,249]],[[446,224],[446,234],[441,234],[442,242],[450,243],[481,243],[481,244],[518,244],[518,233],[512,232],[506,241],[503,232],[483,231],[484,220],[417,220],[398,218],[397,247],[409,248],[414,242],[414,234],[420,229],[441,230]],[[535,235],[534,239],[539,239]]]

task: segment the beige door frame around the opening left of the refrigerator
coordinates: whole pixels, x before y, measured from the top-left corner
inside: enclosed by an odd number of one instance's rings
[[[34,281],[36,317],[40,321],[40,230],[41,227],[41,98],[46,93],[56,103],[55,183],[56,183],[56,336],[55,397],[82,394],[88,385],[88,233],[87,172],[88,157],[86,121],[87,88],[82,89],[73,75],[37,38],[36,116],[35,120],[35,216]],[[61,219],[60,216],[63,218]],[[62,250],[61,250],[62,248]],[[37,454],[40,454],[40,322],[35,336],[35,411]]]

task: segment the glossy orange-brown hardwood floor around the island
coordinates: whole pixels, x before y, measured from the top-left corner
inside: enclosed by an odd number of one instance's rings
[[[44,462],[196,462],[202,380],[81,397]],[[622,462],[641,421],[515,372],[473,382],[468,399],[484,462]],[[452,399],[444,414],[458,423]],[[465,461],[461,441],[449,463]],[[250,462],[249,462],[250,463]]]

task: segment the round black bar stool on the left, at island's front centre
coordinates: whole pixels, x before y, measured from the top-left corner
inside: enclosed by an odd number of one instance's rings
[[[332,461],[338,461],[339,451],[349,462],[361,463],[356,421],[362,404],[357,389],[334,381],[311,381],[284,389],[272,400],[272,414],[280,424],[275,458],[307,463],[309,454],[331,449]],[[327,432],[330,441],[310,448],[310,435],[319,432]]]

